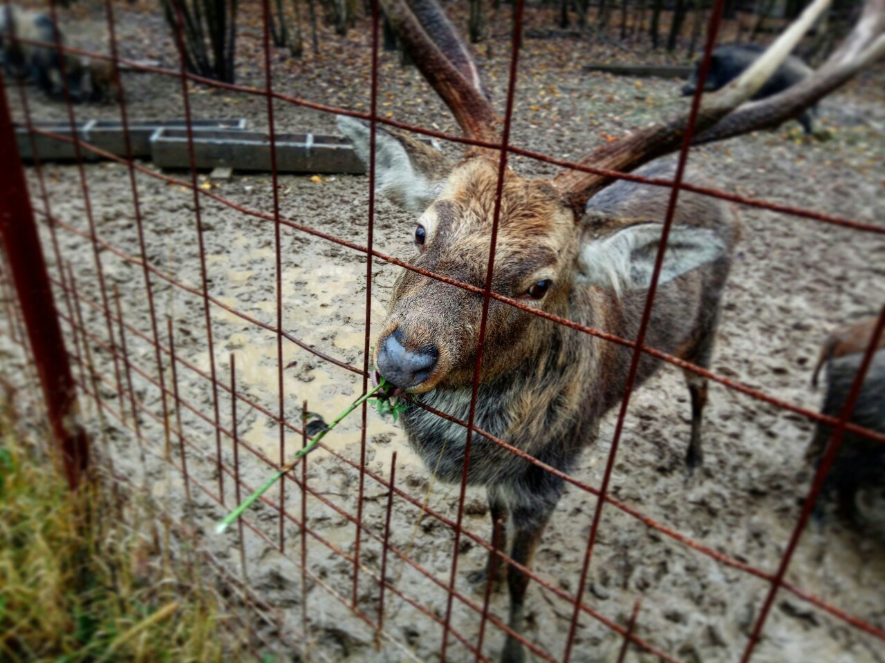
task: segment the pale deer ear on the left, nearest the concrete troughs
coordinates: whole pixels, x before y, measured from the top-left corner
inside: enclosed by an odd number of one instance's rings
[[[339,115],[338,128],[369,167],[371,131],[368,124]],[[387,196],[405,210],[426,210],[443,191],[443,184],[451,171],[449,160],[426,142],[380,125],[376,128],[375,192]]]

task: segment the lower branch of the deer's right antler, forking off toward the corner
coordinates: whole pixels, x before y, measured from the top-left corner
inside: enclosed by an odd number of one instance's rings
[[[885,0],[869,0],[843,44],[806,80],[778,95],[747,103],[729,113],[715,126],[699,134],[695,143],[721,141],[726,138],[779,126],[795,118],[843,86],[861,69],[885,57]]]

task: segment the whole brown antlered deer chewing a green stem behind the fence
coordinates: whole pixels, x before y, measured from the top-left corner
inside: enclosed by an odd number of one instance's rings
[[[820,69],[779,95],[750,102],[827,4],[814,0],[741,76],[699,98],[694,143],[795,118],[885,53],[885,0],[868,0],[857,26]],[[476,429],[571,472],[596,440],[602,416],[621,400],[632,348],[533,312],[635,339],[654,281],[657,293],[644,343],[709,368],[739,222],[726,202],[681,190],[665,245],[670,188],[616,177],[633,173],[673,181],[678,165],[661,157],[685,140],[689,110],[606,143],[581,158],[581,169],[553,179],[527,179],[502,169],[503,120],[466,42],[440,6],[435,0],[381,0],[381,9],[461,132],[481,144],[453,162],[395,123],[338,118],[370,168],[374,135],[376,192],[416,215],[412,265],[440,277],[408,269],[399,274],[374,345],[375,377],[412,400],[402,416],[404,431],[427,468],[448,482],[462,481],[466,472],[467,484],[486,489],[493,528],[505,523],[498,541],[508,564],[494,565],[491,551],[485,573],[496,568],[487,582],[506,580],[510,596],[500,659],[520,663],[525,647],[513,634],[521,633],[525,622],[528,575],[521,568],[531,568],[564,481],[479,435],[473,436],[468,457],[470,431],[430,410],[461,422],[473,415]],[[701,170],[689,167],[685,179],[702,183]],[[643,353],[635,385],[659,363]],[[685,370],[685,377],[691,396],[690,471],[703,461],[708,389],[696,370]]]

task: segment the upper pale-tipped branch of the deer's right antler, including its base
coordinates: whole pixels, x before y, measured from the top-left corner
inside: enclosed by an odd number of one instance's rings
[[[704,95],[697,113],[695,132],[701,133],[716,125],[754,95],[781,66],[829,4],[830,0],[814,0],[745,72],[720,91]],[[678,149],[688,122],[689,113],[686,111],[668,122],[652,125],[620,141],[604,145],[585,156],[579,163],[608,171],[635,170],[658,156]],[[559,173],[554,179],[554,185],[566,195],[575,210],[581,210],[593,194],[611,181],[611,177],[603,174],[572,170]]]

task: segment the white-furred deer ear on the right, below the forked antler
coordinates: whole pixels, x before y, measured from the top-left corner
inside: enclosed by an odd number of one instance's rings
[[[599,240],[584,240],[578,255],[579,280],[614,290],[642,290],[651,285],[661,230],[658,223],[629,225]],[[708,228],[676,225],[670,229],[658,284],[712,263],[726,245]]]

